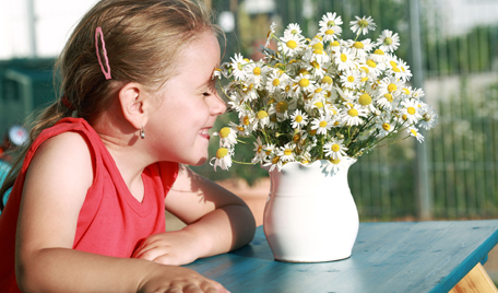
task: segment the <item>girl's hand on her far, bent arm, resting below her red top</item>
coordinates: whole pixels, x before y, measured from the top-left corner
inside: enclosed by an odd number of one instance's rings
[[[154,234],[145,238],[132,258],[146,259],[163,265],[181,266],[200,257],[198,241],[188,231]]]

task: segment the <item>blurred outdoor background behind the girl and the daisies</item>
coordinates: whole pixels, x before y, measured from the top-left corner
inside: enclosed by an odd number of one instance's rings
[[[0,138],[4,149],[11,143],[12,126],[22,125],[35,108],[56,98],[54,62],[79,19],[95,2],[0,0]],[[354,38],[348,23],[355,15],[374,17],[377,30],[365,36],[372,40],[386,28],[399,33],[401,46],[395,54],[410,65],[411,85],[424,89],[424,98],[437,109],[439,122],[422,132],[424,143],[412,139],[379,148],[352,166],[348,179],[360,221],[498,218],[497,0],[205,2],[226,34],[226,45],[221,40],[223,61],[239,51],[259,60],[259,45],[265,43],[272,22],[277,24],[278,36],[285,25],[298,23],[304,35],[312,37],[327,12],[342,16],[344,39]],[[217,130],[230,115],[218,119]],[[212,140],[212,156],[217,143],[216,138]],[[245,152],[250,160],[251,145]],[[270,186],[265,171],[237,164],[229,172],[214,172],[209,164],[194,169],[240,195],[261,224]],[[498,265],[487,266],[491,277],[498,276],[493,276]]]

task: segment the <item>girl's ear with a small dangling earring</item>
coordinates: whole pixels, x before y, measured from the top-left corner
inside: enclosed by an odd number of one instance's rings
[[[147,107],[144,106],[147,97],[146,91],[134,82],[126,84],[119,91],[119,103],[127,119],[135,129],[145,126],[149,118]]]

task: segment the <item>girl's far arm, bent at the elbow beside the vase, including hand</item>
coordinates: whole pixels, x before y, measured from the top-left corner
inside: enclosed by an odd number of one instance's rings
[[[180,166],[165,206],[187,226],[147,237],[133,257],[185,265],[239,248],[254,236],[256,221],[247,204],[186,166]]]

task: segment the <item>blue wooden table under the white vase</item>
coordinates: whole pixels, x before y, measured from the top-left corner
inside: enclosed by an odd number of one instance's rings
[[[273,259],[260,226],[250,245],[186,267],[233,293],[449,292],[497,243],[498,220],[360,223],[351,258],[288,263]]]

